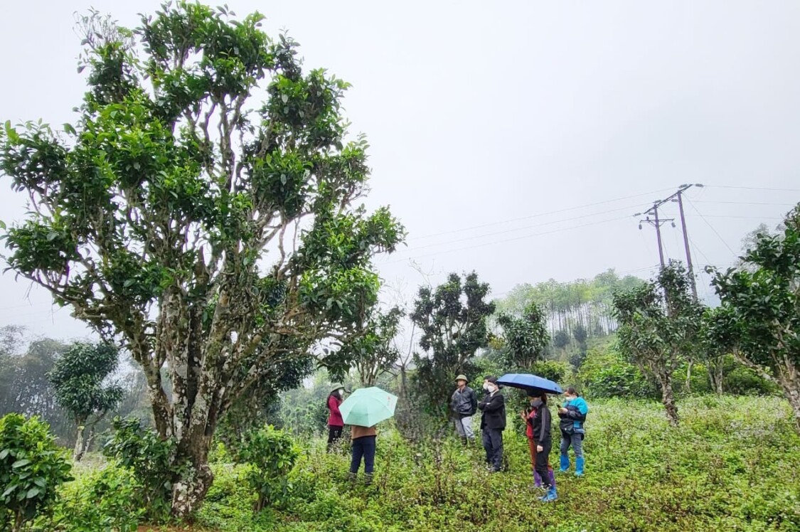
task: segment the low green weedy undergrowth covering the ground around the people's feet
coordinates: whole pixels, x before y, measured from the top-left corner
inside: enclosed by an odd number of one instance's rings
[[[214,464],[188,530],[800,530],[800,438],[786,402],[705,396],[679,408],[674,429],[658,403],[591,404],[586,476],[558,475],[550,504],[536,500],[526,440],[511,428],[501,474],[486,472],[479,447],[383,430],[373,486],[347,482],[346,450],[306,442],[290,498],[259,514],[246,466]]]

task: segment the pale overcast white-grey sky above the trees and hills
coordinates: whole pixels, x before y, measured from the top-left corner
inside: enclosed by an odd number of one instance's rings
[[[74,121],[86,87],[74,13],[134,27],[159,4],[2,2],[0,121]],[[258,10],[306,68],[352,83],[346,116],[371,146],[366,205],[390,205],[409,234],[376,259],[392,299],[450,271],[477,271],[494,297],[609,268],[647,278],[656,237],[634,213],[684,183],[704,185],[685,195],[698,269],[729,266],[746,233],[800,201],[800,2],[227,5]],[[25,211],[0,176],[0,219]],[[667,258],[684,258],[676,225],[662,228]],[[705,273],[698,292],[712,292]],[[13,272],[0,294],[0,326],[88,334]]]

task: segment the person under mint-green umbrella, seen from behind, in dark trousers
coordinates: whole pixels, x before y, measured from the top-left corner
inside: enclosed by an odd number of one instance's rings
[[[397,396],[372,386],[355,390],[339,406],[344,422],[350,425],[350,482],[358,478],[358,469],[363,460],[364,484],[369,486],[372,483],[378,438],[375,425],[394,415],[397,402]]]

